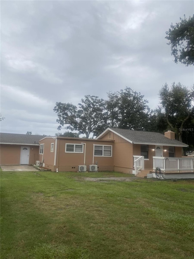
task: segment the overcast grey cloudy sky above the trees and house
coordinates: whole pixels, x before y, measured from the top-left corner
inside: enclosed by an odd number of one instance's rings
[[[56,102],[125,86],[151,108],[167,82],[194,83],[166,31],[193,1],[1,1],[1,132],[55,135]],[[63,133],[67,130],[62,130]]]

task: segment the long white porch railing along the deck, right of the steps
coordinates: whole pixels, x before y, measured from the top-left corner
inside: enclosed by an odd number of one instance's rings
[[[153,156],[153,169],[156,167],[164,172],[194,172],[194,158]]]

